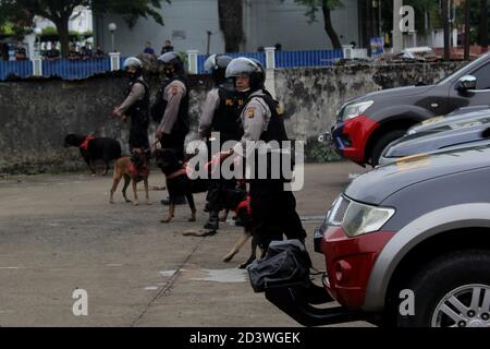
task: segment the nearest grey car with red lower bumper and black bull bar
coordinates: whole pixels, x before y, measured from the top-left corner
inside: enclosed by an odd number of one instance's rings
[[[267,299],[303,325],[490,327],[489,179],[487,146],[358,177],[315,232],[323,288],[297,282],[294,267],[275,278],[282,285],[266,282]]]

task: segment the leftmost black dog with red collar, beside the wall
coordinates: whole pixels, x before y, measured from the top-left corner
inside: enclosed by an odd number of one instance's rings
[[[91,173],[95,174],[94,161],[102,160],[106,165],[103,176],[109,171],[109,165],[112,160],[121,157],[121,144],[109,137],[94,137],[91,135],[69,134],[64,139],[64,146],[75,146],[87,163]]]

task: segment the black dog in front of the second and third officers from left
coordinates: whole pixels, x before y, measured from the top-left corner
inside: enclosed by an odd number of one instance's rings
[[[155,161],[161,171],[166,174],[167,190],[169,192],[169,216],[161,222],[170,222],[175,213],[175,200],[184,195],[191,207],[191,218],[188,221],[196,221],[196,205],[193,193],[204,193],[207,191],[207,181],[204,179],[191,180],[187,177],[184,165],[179,161],[172,149],[157,149],[154,153]]]

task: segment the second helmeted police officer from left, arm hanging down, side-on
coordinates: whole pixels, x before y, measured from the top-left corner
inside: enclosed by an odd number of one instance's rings
[[[160,113],[161,121],[157,128],[157,139],[162,148],[170,148],[175,153],[179,160],[184,160],[184,143],[189,131],[188,93],[184,62],[179,53],[171,51],[158,58],[163,65],[167,80],[163,82],[161,94],[157,96],[158,108],[152,107]],[[176,204],[185,204],[185,197],[179,197]],[[162,204],[169,204],[163,200]]]

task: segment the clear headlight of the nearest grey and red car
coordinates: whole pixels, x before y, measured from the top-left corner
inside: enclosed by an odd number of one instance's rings
[[[393,217],[395,210],[351,201],[342,222],[342,229],[351,237],[380,230]]]

